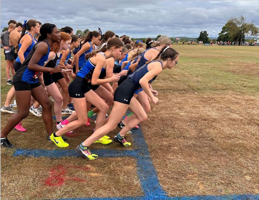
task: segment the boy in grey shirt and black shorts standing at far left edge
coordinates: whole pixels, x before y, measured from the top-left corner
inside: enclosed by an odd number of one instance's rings
[[[1,48],[4,49],[4,55],[5,55],[5,60],[7,62],[6,64],[6,76],[7,76],[7,84],[8,85],[13,85],[13,82],[11,81],[11,75],[10,75],[10,68],[12,67],[12,74],[14,76],[14,69],[13,69],[13,52],[9,44],[9,36],[10,33],[15,29],[15,24],[10,23],[8,26],[8,30],[1,33]]]

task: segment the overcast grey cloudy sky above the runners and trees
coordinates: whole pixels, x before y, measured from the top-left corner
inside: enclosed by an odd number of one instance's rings
[[[58,28],[112,30],[133,38],[216,37],[227,20],[243,15],[259,27],[259,1],[1,1],[1,32],[10,19],[31,18]]]

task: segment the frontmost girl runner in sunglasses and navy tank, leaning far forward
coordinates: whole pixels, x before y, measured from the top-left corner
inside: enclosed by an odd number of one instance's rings
[[[86,141],[84,146],[89,146],[99,137],[108,134],[113,131],[118,123],[129,109],[135,113],[135,117],[132,118],[124,128],[114,136],[114,141],[119,142],[122,146],[128,147],[131,145],[124,138],[126,133],[134,128],[137,124],[147,119],[145,110],[140,105],[138,100],[133,97],[134,92],[138,88],[143,88],[145,93],[150,97],[153,103],[157,103],[158,98],[155,97],[149,88],[149,82],[162,72],[162,69],[172,69],[177,64],[179,55],[177,51],[172,48],[164,47],[154,61],[149,64],[143,65],[134,73],[129,75],[129,79],[126,79],[115,91],[114,94],[114,106],[109,115],[108,122],[97,129]],[[170,86],[171,87],[171,86]]]

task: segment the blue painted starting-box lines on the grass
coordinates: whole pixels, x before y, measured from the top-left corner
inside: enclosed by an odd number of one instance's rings
[[[126,113],[126,115],[129,112]],[[68,116],[62,117],[66,119]],[[91,119],[95,119],[93,116]],[[56,119],[53,116],[53,119]],[[144,196],[137,197],[109,197],[109,198],[67,198],[56,200],[259,200],[259,195],[242,194],[242,195],[220,195],[220,196],[185,196],[185,197],[168,197],[167,193],[161,187],[157,172],[153,166],[152,159],[149,154],[148,146],[145,141],[144,135],[139,129],[133,129],[133,142],[135,145],[134,150],[114,150],[114,149],[99,149],[93,150],[94,153],[100,157],[121,157],[130,156],[136,159],[137,175],[140,180],[141,189]],[[39,149],[17,149],[13,156],[44,156],[51,158],[58,158],[64,156],[79,156],[75,150],[39,150]]]

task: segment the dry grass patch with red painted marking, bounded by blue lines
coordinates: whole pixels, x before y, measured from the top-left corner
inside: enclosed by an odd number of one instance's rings
[[[126,197],[142,194],[133,158],[100,158],[94,162],[78,157],[52,159],[20,156],[10,160],[10,156],[2,154],[1,158],[9,160],[1,163],[1,199]],[[64,173],[59,175],[60,172]],[[123,176],[119,175],[121,173]],[[55,177],[62,177],[63,184],[48,186],[48,180]],[[57,183],[55,180],[50,182]]]

